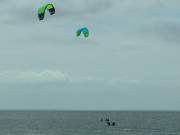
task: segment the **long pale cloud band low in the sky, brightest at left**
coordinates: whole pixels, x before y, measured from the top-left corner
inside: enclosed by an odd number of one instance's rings
[[[72,84],[103,84],[117,86],[123,84],[138,84],[142,78],[119,76],[118,78],[99,77],[99,76],[70,76],[59,70],[40,70],[40,71],[18,71],[7,70],[0,72],[0,83],[18,83],[18,82],[69,82]]]

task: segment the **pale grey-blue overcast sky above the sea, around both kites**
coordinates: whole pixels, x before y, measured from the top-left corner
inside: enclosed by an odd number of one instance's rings
[[[0,0],[0,110],[180,110],[179,5]]]

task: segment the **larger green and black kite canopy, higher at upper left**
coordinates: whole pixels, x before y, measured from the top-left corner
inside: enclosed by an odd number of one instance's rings
[[[39,20],[43,20],[45,16],[46,10],[49,11],[50,15],[55,14],[55,8],[54,5],[51,3],[45,4],[42,7],[38,9],[38,18]]]

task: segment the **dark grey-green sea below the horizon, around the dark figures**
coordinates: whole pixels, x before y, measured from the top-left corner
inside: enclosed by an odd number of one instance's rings
[[[1,111],[0,135],[180,135],[180,112]]]

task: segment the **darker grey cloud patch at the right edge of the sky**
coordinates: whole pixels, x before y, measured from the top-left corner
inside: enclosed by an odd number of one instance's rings
[[[142,25],[141,33],[146,34],[146,37],[159,39],[166,43],[180,43],[180,20],[176,18],[153,18],[151,21]]]

